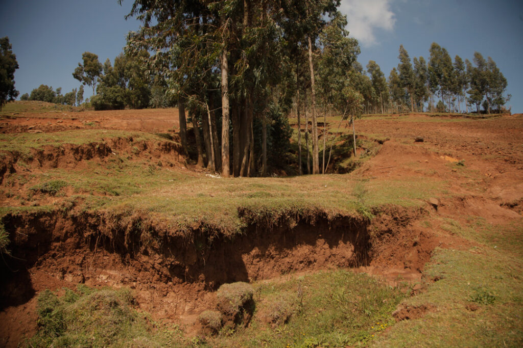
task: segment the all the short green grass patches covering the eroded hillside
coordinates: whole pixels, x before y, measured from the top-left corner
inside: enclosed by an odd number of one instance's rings
[[[401,116],[397,119],[399,122],[426,121],[409,117]],[[434,122],[449,122],[449,119],[438,117],[434,118]],[[19,135],[8,140],[4,140],[6,136],[3,136],[2,140],[6,142],[0,143],[7,143],[12,149],[19,146],[17,150],[27,152],[31,147],[26,144],[29,141],[39,144],[37,146],[59,146],[61,141],[100,141],[97,133],[78,136],[78,132],[65,132],[58,138]],[[25,138],[33,136],[35,138]],[[122,133],[118,132],[114,136],[122,136]],[[134,137],[148,138],[151,135],[134,134]],[[3,148],[7,149],[8,146]],[[195,221],[204,221],[220,227],[224,232],[234,232],[242,226],[237,214],[240,207],[249,207],[260,213],[281,213],[292,207],[298,211],[320,209],[332,214],[353,214],[361,212],[361,208],[368,211],[371,207],[388,203],[420,205],[423,199],[436,195],[446,187],[445,182],[422,178],[410,182],[385,182],[379,179],[362,180],[351,175],[223,179],[184,174],[146,160],[129,161],[123,155],[87,170],[56,169],[33,175],[35,177],[30,177],[28,183],[32,187],[51,181],[65,182],[66,186],[74,189],[75,194],[64,197],[64,201],[78,200],[88,210],[139,209],[160,214],[173,224],[190,225]],[[17,178],[14,175],[10,179],[28,178]],[[97,193],[105,196],[95,196]],[[64,195],[64,190],[60,189],[57,195]],[[30,201],[31,197],[21,199]],[[3,212],[19,209],[50,207],[2,208]],[[66,314],[64,320],[73,320],[67,319],[67,315],[75,313],[74,310],[81,310],[79,314],[85,315],[85,320],[82,319],[84,321],[81,321],[80,326],[67,324],[71,328],[71,331],[67,331],[68,338],[60,335],[53,340],[55,346],[85,343],[87,337],[95,337],[100,345],[112,346],[129,345],[131,342],[137,346],[517,346],[523,342],[523,299],[520,295],[523,287],[518,271],[523,266],[521,224],[491,226],[481,219],[471,219],[469,224],[463,226],[455,221],[446,223],[453,233],[472,239],[479,246],[469,250],[436,251],[426,269],[426,276],[427,279],[438,277],[441,280],[427,284],[426,292],[405,299],[405,304],[436,305],[437,310],[423,319],[395,324],[391,312],[403,298],[397,289],[380,284],[366,275],[327,271],[305,277],[255,283],[257,312],[251,327],[240,329],[234,334],[222,332],[208,342],[198,338],[186,339],[177,328],[156,327],[156,324],[151,327],[145,323],[142,315],[134,312],[131,308],[132,299],[128,302],[127,295],[123,302],[111,300],[111,308],[120,308],[117,315],[123,316],[111,322],[114,329],[111,332],[98,332],[88,318],[105,315],[104,310],[107,308],[83,308],[86,303],[93,301],[90,297],[88,301],[83,298],[94,295],[80,291],[76,297],[70,294],[67,301],[65,298],[60,299],[58,307]],[[111,296],[116,295],[107,290],[96,298]],[[287,303],[278,306],[275,301],[279,298],[287,299]],[[41,301],[47,300],[43,298]],[[115,303],[118,305],[115,306]],[[471,311],[465,307],[469,304],[479,308]],[[287,323],[278,323],[273,328],[264,323],[262,317],[274,308],[290,308],[290,317]],[[59,315],[63,316],[63,313]],[[384,323],[387,326],[382,328]],[[387,329],[390,326],[393,326],[392,329]],[[104,341],[104,337],[109,337],[108,341]],[[44,333],[32,344],[48,345],[52,341],[49,339]]]

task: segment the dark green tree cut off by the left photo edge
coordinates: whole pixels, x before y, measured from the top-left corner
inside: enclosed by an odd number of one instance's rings
[[[0,39],[0,111],[6,102],[18,97],[15,89],[15,70],[18,69],[18,63],[12,49],[8,37]]]

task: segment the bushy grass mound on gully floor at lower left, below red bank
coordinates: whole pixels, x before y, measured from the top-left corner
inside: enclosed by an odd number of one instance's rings
[[[46,290],[38,296],[38,333],[26,347],[161,347],[173,346],[176,327],[150,325],[147,315],[133,309],[135,299],[127,289],[65,289],[61,297]]]

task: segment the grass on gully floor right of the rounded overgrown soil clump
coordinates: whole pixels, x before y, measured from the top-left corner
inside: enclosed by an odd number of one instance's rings
[[[248,328],[221,332],[201,346],[339,347],[369,344],[393,325],[404,298],[399,289],[366,274],[317,272],[253,284],[256,311]],[[280,319],[280,320],[278,320]]]

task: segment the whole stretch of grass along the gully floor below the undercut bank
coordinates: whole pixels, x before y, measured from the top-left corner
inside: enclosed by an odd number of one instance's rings
[[[315,347],[371,343],[394,324],[405,295],[366,274],[332,270],[253,283],[255,313],[245,327],[214,337],[183,337],[177,327],[133,309],[131,291],[46,290],[38,296],[38,333],[25,346]],[[145,319],[147,318],[147,319]],[[281,320],[280,320],[281,319]]]

